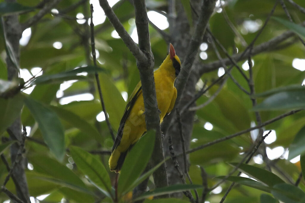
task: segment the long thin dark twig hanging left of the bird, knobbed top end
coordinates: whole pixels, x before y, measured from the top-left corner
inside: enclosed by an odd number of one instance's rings
[[[92,13],[93,13],[93,5],[92,4],[90,5],[90,11],[91,11],[91,22],[90,22],[91,50],[92,50],[92,58],[93,58],[94,66],[97,67],[96,53],[95,53],[95,42],[94,42],[94,24],[93,24],[93,15],[92,15]],[[110,135],[111,135],[112,139],[114,140],[115,136],[113,134],[113,130],[112,130],[111,124],[109,122],[109,117],[108,117],[108,114],[107,114],[107,111],[106,111],[106,108],[105,108],[105,103],[104,103],[104,100],[103,100],[101,84],[99,83],[99,74],[96,71],[95,71],[95,80],[96,80],[97,88],[98,88],[98,91],[99,91],[99,98],[101,100],[102,109],[103,109],[103,112],[104,112],[104,115],[105,115],[105,120],[106,120],[108,129],[109,129]]]

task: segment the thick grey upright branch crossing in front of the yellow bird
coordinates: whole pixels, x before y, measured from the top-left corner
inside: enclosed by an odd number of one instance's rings
[[[137,26],[139,47],[146,55],[146,60],[138,60],[137,66],[140,72],[142,82],[142,91],[145,107],[146,129],[156,130],[155,147],[152,154],[152,165],[157,165],[160,160],[164,159],[163,143],[161,138],[160,117],[156,98],[155,80],[153,75],[154,58],[152,55],[149,41],[149,19],[147,17],[145,1],[134,1],[135,6],[135,24]],[[166,165],[163,163],[160,168],[153,173],[156,187],[165,187],[168,185]],[[164,197],[169,197],[165,195]]]

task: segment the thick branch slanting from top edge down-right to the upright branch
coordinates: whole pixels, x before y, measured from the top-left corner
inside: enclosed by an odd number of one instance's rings
[[[113,25],[114,29],[117,31],[119,36],[122,38],[128,49],[131,51],[132,55],[137,59],[137,61],[146,61],[147,58],[145,54],[140,50],[138,45],[131,39],[130,35],[125,30],[124,26],[117,18],[111,7],[109,6],[107,0],[100,0],[99,4],[105,12],[105,15],[109,19],[110,23]]]

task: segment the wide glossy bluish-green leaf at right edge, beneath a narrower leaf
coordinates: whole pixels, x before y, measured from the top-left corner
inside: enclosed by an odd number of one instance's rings
[[[268,96],[262,103],[253,107],[257,110],[292,110],[305,107],[305,88],[287,90]]]

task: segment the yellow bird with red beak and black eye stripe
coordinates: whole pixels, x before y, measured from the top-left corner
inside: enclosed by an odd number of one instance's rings
[[[160,123],[162,123],[164,116],[174,108],[177,98],[177,89],[174,87],[174,81],[180,72],[180,68],[180,59],[176,55],[173,45],[170,44],[168,56],[154,72],[156,96],[160,110]],[[144,112],[144,100],[140,81],[127,101],[127,106],[117,131],[117,137],[109,158],[111,171],[118,173],[121,170],[128,150],[146,132]]]

